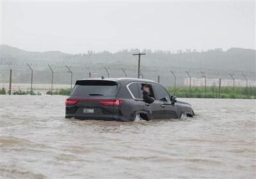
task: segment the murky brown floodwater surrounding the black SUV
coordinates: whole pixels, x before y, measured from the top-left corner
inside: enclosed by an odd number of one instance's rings
[[[0,178],[255,178],[256,100],[180,99],[181,120],[67,120],[62,96],[1,95]]]

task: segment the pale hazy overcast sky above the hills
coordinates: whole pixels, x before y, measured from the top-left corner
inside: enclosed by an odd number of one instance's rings
[[[255,49],[255,2],[2,1],[1,43],[68,53]]]

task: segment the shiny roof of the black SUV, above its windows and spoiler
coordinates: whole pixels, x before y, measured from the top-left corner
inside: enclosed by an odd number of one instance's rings
[[[120,84],[129,84],[131,82],[145,82],[145,83],[150,83],[150,84],[159,84],[158,82],[156,81],[152,81],[152,80],[149,80],[149,79],[138,79],[138,78],[126,78],[126,77],[123,77],[123,78],[86,78],[86,79],[81,79],[79,81],[87,81],[87,80],[102,80],[102,81],[115,81],[115,82],[118,82]]]

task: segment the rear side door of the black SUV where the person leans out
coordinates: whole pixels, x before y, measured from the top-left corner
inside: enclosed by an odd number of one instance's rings
[[[139,95],[140,98],[143,99],[143,89],[141,88],[143,83],[138,83],[138,89],[139,89]],[[154,91],[152,88],[152,85],[150,85],[150,92],[152,93],[152,96],[154,97]],[[156,97],[154,97],[155,99]],[[159,101],[154,101],[151,104],[147,104],[144,102],[144,109],[147,111],[147,113],[150,115],[150,119],[161,119],[163,118],[162,116],[162,109],[161,109],[161,102]]]

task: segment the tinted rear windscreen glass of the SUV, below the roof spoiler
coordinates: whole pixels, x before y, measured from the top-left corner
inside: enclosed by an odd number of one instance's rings
[[[117,85],[79,85],[77,84],[71,95],[73,96],[104,96],[113,97],[116,95]]]

